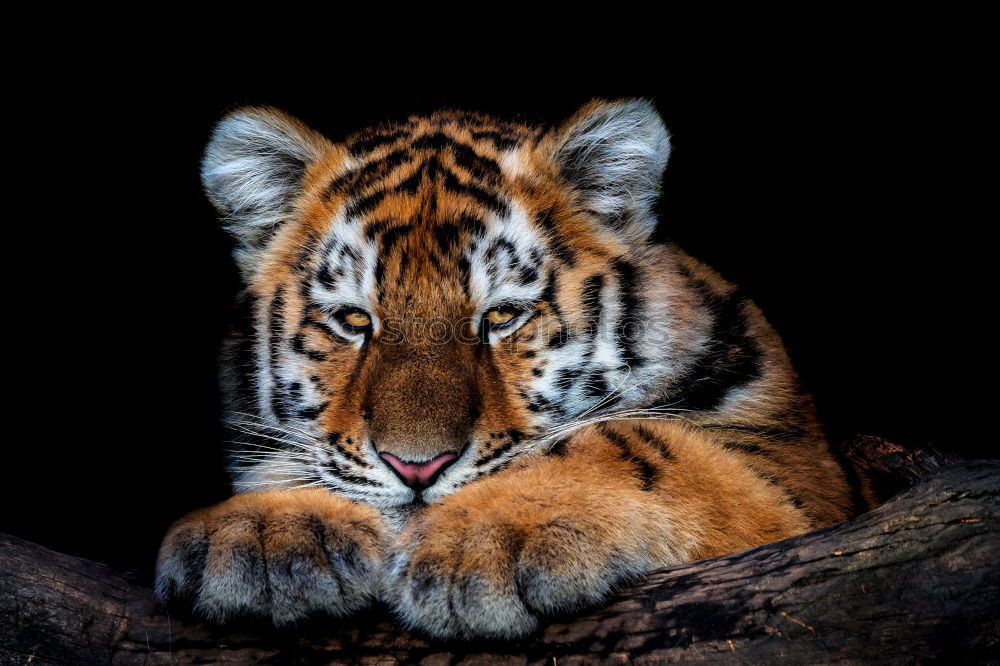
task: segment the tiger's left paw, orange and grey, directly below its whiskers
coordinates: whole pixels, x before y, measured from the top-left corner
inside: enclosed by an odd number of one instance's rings
[[[374,599],[385,542],[374,509],[325,490],[238,495],[170,528],[156,593],[216,622],[343,616]]]

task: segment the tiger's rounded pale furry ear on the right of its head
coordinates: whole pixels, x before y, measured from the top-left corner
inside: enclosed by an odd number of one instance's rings
[[[580,208],[626,242],[649,238],[670,157],[670,134],[652,102],[590,102],[557,130],[551,151]]]

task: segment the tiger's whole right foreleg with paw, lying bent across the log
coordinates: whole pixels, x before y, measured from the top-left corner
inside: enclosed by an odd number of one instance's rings
[[[415,517],[388,600],[438,637],[516,637],[650,571],[803,532],[783,492],[696,433],[579,431]]]

